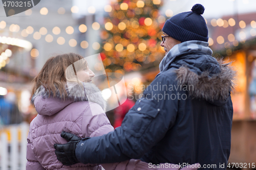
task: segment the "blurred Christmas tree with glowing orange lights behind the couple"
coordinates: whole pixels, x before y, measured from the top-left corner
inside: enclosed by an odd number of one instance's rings
[[[161,0],[118,0],[105,6],[101,58],[106,72],[124,74],[159,65],[165,52],[160,46],[165,17]]]

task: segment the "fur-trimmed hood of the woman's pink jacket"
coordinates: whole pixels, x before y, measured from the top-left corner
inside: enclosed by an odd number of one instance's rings
[[[53,98],[52,91],[51,91],[51,94],[49,97],[49,93],[45,89],[45,87],[40,86],[36,90],[36,92],[33,94],[31,103],[35,105],[35,108],[37,111],[45,110],[43,112],[42,111],[38,112],[38,114],[41,114],[41,115],[53,115],[73,102],[82,102],[82,101],[89,101],[89,102],[97,103],[105,111],[106,101],[103,99],[101,91],[95,84],[84,83],[84,82],[82,82],[81,84],[68,83],[66,85],[66,91],[67,91],[68,95],[65,97],[65,100],[64,100],[64,94],[62,94],[62,96],[61,96],[58,89],[56,90],[56,94]],[[51,111],[47,111],[47,110],[49,110],[47,108],[48,106],[44,106],[47,109],[38,108],[36,103],[42,102],[43,100],[51,101],[51,103],[53,102],[54,108],[51,108],[52,109]],[[39,106],[41,107],[41,105],[39,105]]]

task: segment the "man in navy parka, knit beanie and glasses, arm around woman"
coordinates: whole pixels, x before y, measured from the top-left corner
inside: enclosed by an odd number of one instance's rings
[[[103,136],[55,144],[58,160],[111,163],[133,158],[152,164],[226,168],[234,71],[211,56],[203,12],[204,7],[196,4],[190,12],[166,20],[160,73],[121,127]]]

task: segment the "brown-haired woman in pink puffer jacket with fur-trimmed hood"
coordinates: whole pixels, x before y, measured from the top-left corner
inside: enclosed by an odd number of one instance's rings
[[[60,137],[62,131],[85,138],[114,130],[104,112],[106,102],[100,90],[91,83],[93,77],[87,61],[77,54],[63,54],[47,60],[33,80],[31,102],[38,115],[30,124],[27,170],[102,169],[98,164],[63,165],[57,160],[53,147],[55,143],[67,142]],[[154,169],[134,159],[102,166],[106,170]]]

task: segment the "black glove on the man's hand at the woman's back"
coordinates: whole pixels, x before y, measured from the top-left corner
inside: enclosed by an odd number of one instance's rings
[[[67,139],[69,142],[65,144],[54,144],[55,148],[55,154],[57,156],[57,159],[62,162],[63,165],[73,165],[76,163],[79,163],[79,161],[76,158],[76,146],[77,144],[82,140],[80,137],[68,133],[68,132],[61,132],[61,137]],[[83,138],[83,139],[89,139],[90,137]]]

